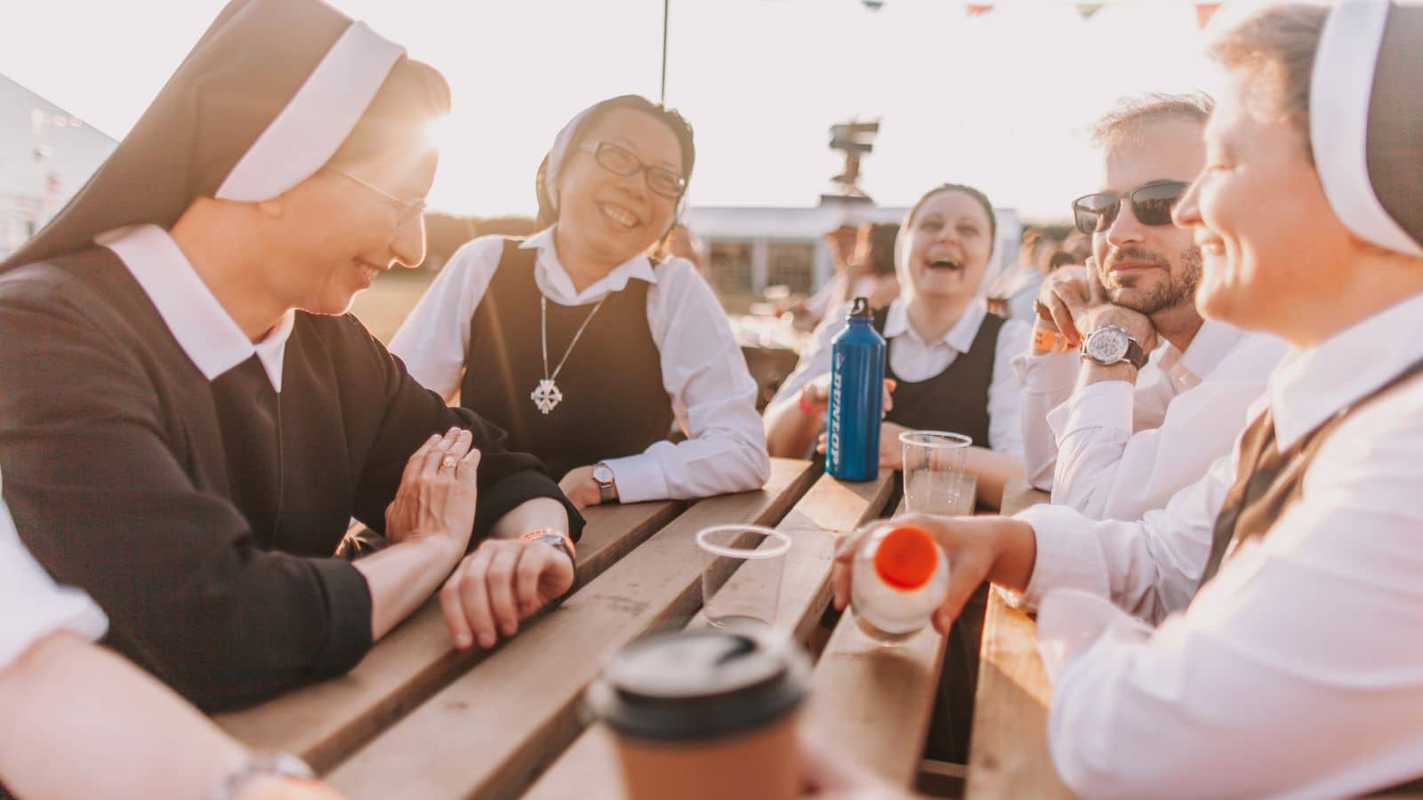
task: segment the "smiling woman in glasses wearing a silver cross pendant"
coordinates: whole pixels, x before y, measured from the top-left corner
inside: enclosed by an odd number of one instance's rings
[[[538,171],[545,228],[461,248],[390,343],[417,380],[544,460],[579,508],[770,474],[756,381],[716,295],[686,259],[645,255],[694,161],[676,111],[638,95],[582,111]],[[673,423],[684,441],[669,441]]]

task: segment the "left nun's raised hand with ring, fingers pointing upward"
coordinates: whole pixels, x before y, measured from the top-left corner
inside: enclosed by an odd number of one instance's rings
[[[453,427],[431,436],[406,461],[396,500],[386,507],[386,538],[400,544],[441,538],[453,548],[450,562],[470,544],[478,500],[480,451],[474,434]]]

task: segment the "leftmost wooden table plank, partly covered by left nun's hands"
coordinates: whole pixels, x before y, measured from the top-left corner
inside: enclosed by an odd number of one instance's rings
[[[638,502],[589,508],[578,548],[579,584],[596,578],[684,507]],[[216,722],[253,749],[295,753],[326,770],[481,658],[478,649],[461,653],[451,648],[440,604],[431,599],[347,675],[221,715]]]

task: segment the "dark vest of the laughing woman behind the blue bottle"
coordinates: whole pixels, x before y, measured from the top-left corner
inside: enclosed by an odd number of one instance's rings
[[[875,330],[881,335],[888,319],[888,306],[875,312]],[[1000,330],[1003,317],[985,315],[969,352],[953,359],[946,370],[918,383],[895,374],[887,350],[885,377],[894,379],[896,386],[894,409],[885,420],[909,430],[961,433],[973,444],[988,447],[988,389],[993,383],[993,356]]]

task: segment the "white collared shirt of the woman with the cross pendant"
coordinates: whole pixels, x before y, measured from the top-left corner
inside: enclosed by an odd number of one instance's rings
[[[622,502],[710,497],[766,484],[771,461],[756,413],[757,386],[726,312],[692,262],[670,258],[653,269],[646,256],[638,255],[579,292],[558,260],[552,228],[521,246],[538,249],[534,280],[551,303],[561,306],[595,303],[632,279],[652,283],[647,327],[662,356],[662,384],[689,438],[677,444],[659,441],[636,456],[606,460]],[[404,359],[410,374],[447,400],[460,389],[470,320],[502,253],[501,236],[482,236],[460,248],[390,342],[390,352]],[[616,353],[589,349],[572,357],[608,359]]]

